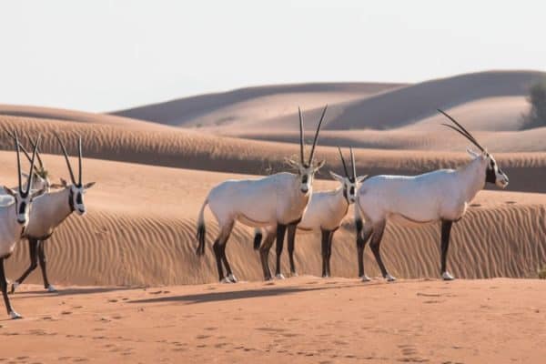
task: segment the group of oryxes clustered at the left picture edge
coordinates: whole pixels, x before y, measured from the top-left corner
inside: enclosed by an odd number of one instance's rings
[[[33,146],[32,157],[28,155],[19,142],[19,137],[14,131],[8,134],[14,139],[15,153],[17,157],[17,179],[16,188],[4,187],[4,194],[0,194],[0,288],[4,296],[7,314],[12,319],[19,319],[21,316],[11,307],[7,296],[7,280],[5,279],[4,260],[9,258],[14,251],[15,244],[21,238],[28,240],[30,252],[30,266],[23,275],[16,279],[12,285],[11,293],[15,292],[23,280],[40,264],[44,277],[44,287],[50,292],[56,289],[49,283],[45,266],[44,242],[50,238],[56,227],[58,227],[72,212],[78,215],[86,213],[83,195],[87,188],[93,187],[95,182],[82,182],[82,140],[78,138],[78,179],[66,153],[66,147],[59,138],[56,139],[63,150],[66,159],[66,166],[71,178],[71,184],[61,178],[61,184],[52,184],[48,177],[48,171],[39,155],[38,145],[40,136],[35,142],[30,140]],[[23,188],[23,173],[21,172],[20,151],[23,150],[25,157],[30,162],[30,168],[26,175],[25,189]],[[38,159],[38,166],[35,166],[35,158]]]

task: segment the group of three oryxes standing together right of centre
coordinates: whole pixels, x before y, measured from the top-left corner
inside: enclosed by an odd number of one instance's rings
[[[349,148],[350,173],[341,149],[339,157],[345,177],[330,171],[339,187],[330,191],[313,192],[313,177],[324,161],[314,160],[319,139],[320,126],[326,114],[324,108],[319,119],[313,146],[308,159],[305,158],[303,117],[299,110],[299,161],[288,160],[297,173],[281,172],[256,179],[230,179],[220,183],[208,193],[197,221],[197,255],[205,253],[205,218],[208,205],[216,217],[219,233],[213,244],[217,261],[218,278],[224,283],[237,282],[227,261],[226,245],[236,221],[255,227],[254,248],[259,249],[264,278],[271,279],[268,265],[269,249],[276,241],[277,264],[275,277],[284,278],[280,271],[280,257],[284,237],[288,230],[288,255],[290,273],[296,274],[294,243],[298,231],[320,231],[322,234],[322,277],[330,275],[332,238],[341,226],[349,206],[354,204],[354,219],[357,227],[357,260],[359,277],[369,278],[364,271],[363,254],[368,240],[383,278],[393,281],[380,254],[380,244],[387,220],[409,226],[441,222],[440,275],[445,280],[453,279],[447,270],[450,231],[454,222],[460,220],[470,201],[485,187],[486,183],[499,187],[508,186],[508,177],[498,167],[495,159],[482,147],[474,136],[453,117],[442,110],[452,124],[448,126],[470,143],[479,152],[467,149],[471,160],[457,169],[439,169],[419,176],[357,176],[352,148]],[[265,238],[262,243],[263,232]],[[261,246],[260,246],[261,245]],[[225,269],[225,272],[224,272]]]

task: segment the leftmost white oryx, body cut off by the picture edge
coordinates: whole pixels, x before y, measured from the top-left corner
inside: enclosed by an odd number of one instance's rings
[[[14,252],[15,244],[21,239],[25,226],[29,219],[30,205],[34,198],[43,193],[43,190],[31,191],[33,183],[34,162],[36,147],[40,142],[40,136],[36,139],[36,145],[32,154],[29,177],[26,181],[26,189],[22,186],[21,176],[21,158],[19,156],[19,139],[14,132],[15,153],[17,154],[17,190],[4,187],[7,196],[0,196],[0,288],[4,296],[5,308],[7,314],[12,319],[20,319],[21,316],[11,307],[7,297],[7,281],[5,280],[4,260],[9,258]]]

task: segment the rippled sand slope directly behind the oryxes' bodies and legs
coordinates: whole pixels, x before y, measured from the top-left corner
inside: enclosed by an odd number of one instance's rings
[[[15,183],[15,156],[0,153],[5,166],[0,179]],[[53,176],[67,176],[60,157],[45,156]],[[217,233],[207,212],[207,257],[195,256],[197,211],[207,191],[233,174],[180,168],[151,167],[86,159],[86,180],[97,182],[86,195],[89,213],[72,216],[47,243],[50,277],[57,284],[161,285],[214,282],[217,271],[210,251]],[[317,188],[335,187],[319,181]],[[482,192],[470,212],[454,228],[450,268],[460,278],[534,277],[546,261],[543,204],[545,195]],[[251,248],[253,231],[238,226],[227,246],[227,255],[239,278],[260,280],[258,254]],[[437,277],[440,230],[437,226],[390,226],[383,242],[386,264],[400,278]],[[332,271],[355,277],[354,229],[350,218],[336,235]],[[319,275],[319,239],[298,236],[296,249],[300,273]],[[271,259],[274,253],[271,254]],[[6,262],[9,278],[26,267],[25,244]],[[287,272],[288,259],[284,259]],[[378,269],[367,251],[367,270]],[[36,271],[29,282],[39,282]]]

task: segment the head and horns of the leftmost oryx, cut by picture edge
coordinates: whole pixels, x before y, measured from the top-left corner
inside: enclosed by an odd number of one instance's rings
[[[43,194],[44,190],[36,190],[31,191],[31,186],[33,185],[33,179],[34,179],[34,173],[32,173],[33,168],[35,167],[35,155],[36,155],[36,149],[38,147],[38,143],[40,142],[40,136],[36,139],[36,144],[32,153],[32,157],[30,158],[30,169],[29,169],[29,177],[26,180],[26,189],[23,189],[22,184],[22,173],[21,173],[21,157],[19,153],[19,138],[17,136],[17,133],[13,132],[13,138],[15,141],[15,152],[17,154],[17,190],[14,191],[13,189],[9,187],[4,187],[5,192],[8,195],[11,195],[15,198],[15,214],[17,217],[17,223],[20,225],[25,226],[28,223],[28,215],[30,210],[30,203],[34,199],[34,197],[39,196]]]

